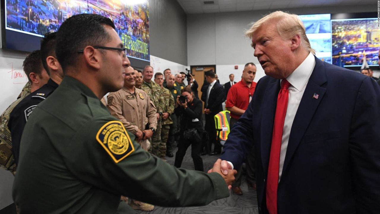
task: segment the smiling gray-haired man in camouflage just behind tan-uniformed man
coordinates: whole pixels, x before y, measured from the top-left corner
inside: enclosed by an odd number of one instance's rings
[[[157,157],[160,157],[159,148],[161,143],[161,118],[163,113],[162,106],[165,105],[165,102],[162,97],[161,87],[152,81],[152,77],[153,67],[146,65],[142,70],[142,78],[144,81],[142,82],[141,89],[148,94],[150,100],[153,101],[155,107],[157,108],[157,129],[152,129],[153,136],[149,152],[153,155],[156,155]],[[163,160],[165,160],[165,158],[163,158]]]

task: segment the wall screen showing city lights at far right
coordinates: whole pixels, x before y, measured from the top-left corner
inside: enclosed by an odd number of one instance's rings
[[[358,67],[366,56],[369,66],[378,66],[380,28],[377,18],[333,19],[332,64]]]

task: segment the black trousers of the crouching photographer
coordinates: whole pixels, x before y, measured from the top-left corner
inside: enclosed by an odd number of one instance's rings
[[[202,133],[199,133],[198,131],[198,134],[202,134]],[[203,172],[203,160],[201,158],[202,142],[199,139],[198,140],[184,140],[183,132],[181,131],[180,139],[177,145],[178,145],[178,150],[176,153],[174,166],[177,168],[181,167],[182,161],[184,160],[184,156],[186,154],[186,150],[191,145],[191,157],[193,158],[194,168],[197,171]]]

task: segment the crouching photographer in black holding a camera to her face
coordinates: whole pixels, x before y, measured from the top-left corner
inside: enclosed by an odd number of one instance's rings
[[[180,140],[174,166],[181,167],[187,148],[192,145],[191,156],[194,161],[195,170],[203,171],[201,158],[201,136],[202,124],[202,101],[195,99],[192,90],[188,87],[182,89],[182,96],[177,96],[174,112],[177,116],[182,115],[180,121]]]

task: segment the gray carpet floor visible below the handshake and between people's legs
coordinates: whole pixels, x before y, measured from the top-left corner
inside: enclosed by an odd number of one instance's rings
[[[174,153],[175,157],[175,153]],[[168,158],[168,163],[174,165],[174,157]],[[207,172],[212,168],[215,161],[218,159],[218,155],[202,156],[204,171]],[[184,161],[182,162],[182,168],[194,169],[193,159],[191,158],[191,147],[187,149]],[[251,187],[247,186],[245,175],[242,175],[242,185],[241,189],[243,195],[235,195],[230,191],[230,196],[228,198],[222,198],[219,200],[212,201],[210,204],[201,207],[183,207],[183,208],[168,208],[155,206],[153,211],[144,212],[137,211],[140,214],[257,214],[257,196],[256,191]]]

